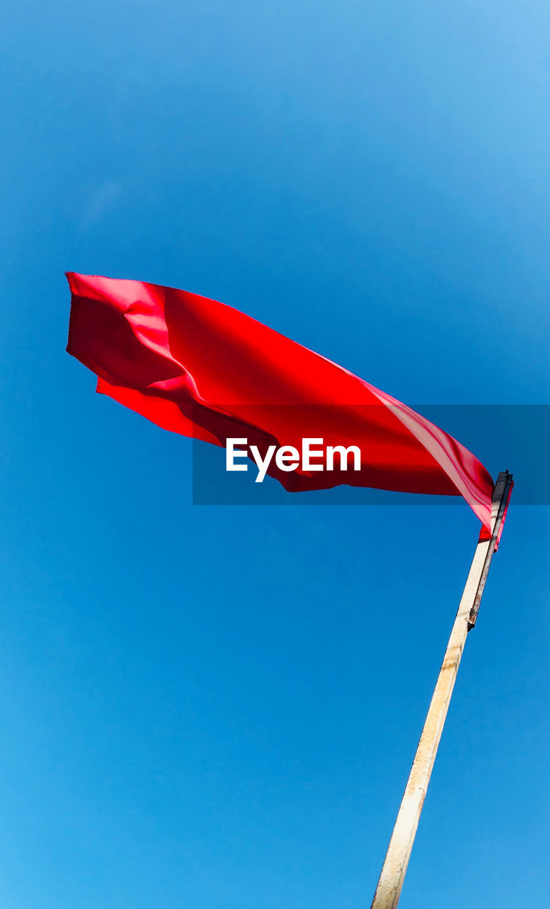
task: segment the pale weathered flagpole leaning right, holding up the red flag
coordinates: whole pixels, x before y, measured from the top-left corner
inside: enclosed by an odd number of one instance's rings
[[[498,474],[493,493],[491,538],[480,540],[475,547],[474,559],[435,684],[432,702],[416,749],[415,760],[397,814],[394,832],[385,854],[371,909],[395,909],[399,902],[406,867],[415,841],[416,828],[430,782],[435,754],[437,754],[437,746],[443,732],[451,694],[455,687],[466,634],[475,625],[477,610],[485,588],[489,566],[495,553],[495,546],[502,530],[512,486],[512,474],[508,474],[508,471]]]

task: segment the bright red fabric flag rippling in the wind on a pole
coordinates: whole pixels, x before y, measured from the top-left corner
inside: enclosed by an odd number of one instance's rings
[[[231,306],[172,287],[67,275],[67,350],[153,423],[215,445],[357,445],[360,469],[267,473],[293,492],[338,484],[464,495],[490,528],[493,481],[474,454],[410,407]]]

